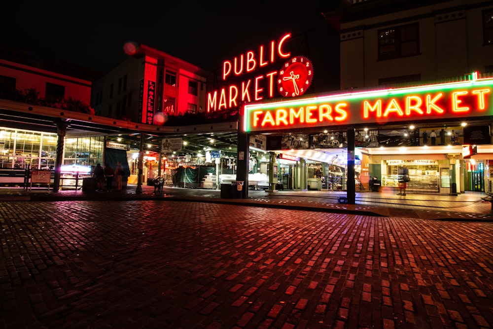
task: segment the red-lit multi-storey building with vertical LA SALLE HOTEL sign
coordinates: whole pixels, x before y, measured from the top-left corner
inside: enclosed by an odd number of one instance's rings
[[[143,44],[127,53],[93,84],[97,115],[163,125],[168,115],[205,110],[211,73]]]

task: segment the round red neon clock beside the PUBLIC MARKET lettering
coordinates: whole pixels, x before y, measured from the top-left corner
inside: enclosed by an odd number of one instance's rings
[[[310,86],[313,78],[313,67],[310,60],[303,56],[296,56],[286,63],[279,71],[278,90],[284,97],[303,95]]]

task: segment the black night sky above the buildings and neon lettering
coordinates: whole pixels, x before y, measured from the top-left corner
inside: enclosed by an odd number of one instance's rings
[[[4,2],[0,43],[40,60],[105,73],[125,60],[123,45],[133,41],[212,71],[290,32],[312,60],[317,85],[339,88],[339,37],[321,14],[331,1]]]

